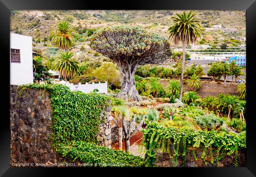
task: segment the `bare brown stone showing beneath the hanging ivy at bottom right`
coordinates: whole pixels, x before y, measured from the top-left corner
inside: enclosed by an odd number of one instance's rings
[[[197,156],[197,160],[194,159],[193,156],[193,150],[195,150],[195,154]],[[156,150],[156,149],[155,149]],[[202,150],[201,148],[193,148],[190,147],[187,152],[187,159],[185,162],[185,167],[234,167],[234,155],[225,155],[222,160],[219,160],[217,163],[211,164],[211,159],[206,156],[204,162],[203,159],[201,159],[202,156]],[[172,151],[172,144],[170,146],[170,152]],[[206,152],[206,154],[210,154],[210,152]],[[213,151],[213,157],[215,157],[216,153]],[[182,159],[178,159],[175,161],[175,159],[171,159],[170,155],[167,153],[162,153],[160,149],[156,152],[156,159],[158,159],[156,162],[154,162],[154,165],[158,167],[180,167],[182,166]],[[245,167],[246,166],[246,153],[245,151],[238,151],[238,166],[239,167]]]

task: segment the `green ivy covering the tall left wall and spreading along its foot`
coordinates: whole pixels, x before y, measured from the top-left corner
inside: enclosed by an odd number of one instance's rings
[[[140,157],[96,145],[100,124],[104,123],[101,114],[104,108],[110,106],[111,98],[108,96],[95,92],[71,92],[69,87],[60,84],[27,84],[19,86],[17,91],[19,95],[25,92],[26,96],[28,89],[47,90],[50,93],[52,145],[64,157],[94,163],[143,164]]]

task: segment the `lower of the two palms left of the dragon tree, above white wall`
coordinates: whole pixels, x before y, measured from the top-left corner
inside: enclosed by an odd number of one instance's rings
[[[74,77],[79,71],[79,61],[72,58],[73,56],[74,53],[72,52],[61,52],[53,63],[54,69],[56,71],[59,70],[61,76],[65,78],[65,81],[67,81],[68,78]]]

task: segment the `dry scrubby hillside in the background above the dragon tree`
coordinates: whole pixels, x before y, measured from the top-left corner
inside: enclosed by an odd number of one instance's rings
[[[59,20],[68,20],[79,33],[77,42],[87,41],[88,31],[118,24],[137,25],[147,31],[168,37],[167,29],[171,16],[182,10],[51,10],[51,11],[11,11],[10,31],[33,37],[33,41],[50,44],[50,31]],[[206,28],[198,44],[217,44],[221,42],[244,44],[245,11],[198,10],[198,20]],[[231,31],[212,28],[222,25]],[[230,42],[230,39],[233,39]],[[234,41],[235,40],[235,41]],[[37,43],[38,43],[37,42]],[[41,46],[40,44],[37,44]]]

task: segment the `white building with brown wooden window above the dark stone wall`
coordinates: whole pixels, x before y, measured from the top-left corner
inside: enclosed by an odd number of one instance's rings
[[[10,85],[33,83],[32,37],[10,33]]]

